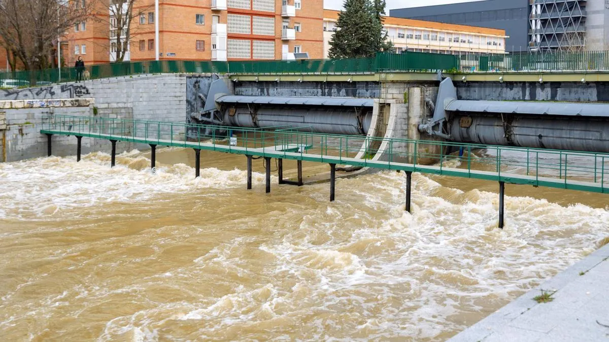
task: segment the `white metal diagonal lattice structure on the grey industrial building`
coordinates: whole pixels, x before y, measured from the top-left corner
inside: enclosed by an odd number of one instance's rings
[[[586,0],[530,0],[530,51],[583,50],[586,3]]]

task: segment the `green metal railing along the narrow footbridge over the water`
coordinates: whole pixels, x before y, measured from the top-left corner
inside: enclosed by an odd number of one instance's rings
[[[609,194],[609,154],[239,128],[102,117],[52,116],[41,133],[189,147]],[[227,136],[236,137],[230,144]],[[379,146],[379,147],[375,147]],[[375,148],[373,148],[375,147]],[[462,150],[462,156],[446,155]],[[381,156],[382,155],[382,156]]]

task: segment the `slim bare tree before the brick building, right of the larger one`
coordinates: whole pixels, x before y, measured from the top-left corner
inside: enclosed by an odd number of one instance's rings
[[[138,2],[140,7],[135,8],[135,2]],[[144,16],[144,20],[147,19],[146,12],[152,5],[142,7],[140,2],[141,0],[101,0],[100,8],[105,11],[109,9],[110,16],[97,16],[96,19],[110,27],[110,48],[112,52],[116,51],[114,61],[124,61],[129,52],[129,45],[138,33],[137,29],[132,27],[133,21],[137,22],[140,16]]]

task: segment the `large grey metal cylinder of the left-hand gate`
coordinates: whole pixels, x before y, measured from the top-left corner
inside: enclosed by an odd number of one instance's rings
[[[372,108],[357,113],[354,108],[259,108],[255,114],[248,106],[224,113],[224,124],[234,127],[272,126],[308,127],[308,131],[329,134],[366,134]]]

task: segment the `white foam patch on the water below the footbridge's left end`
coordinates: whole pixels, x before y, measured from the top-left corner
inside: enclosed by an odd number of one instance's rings
[[[110,155],[91,153],[75,158],[37,158],[0,164],[0,218],[37,215],[45,220],[65,209],[103,203],[144,202],[163,194],[192,194],[203,189],[233,189],[245,184],[246,172],[194,169],[185,164],[157,167],[138,151],[125,152],[110,168]],[[264,175],[253,173],[253,183]]]

